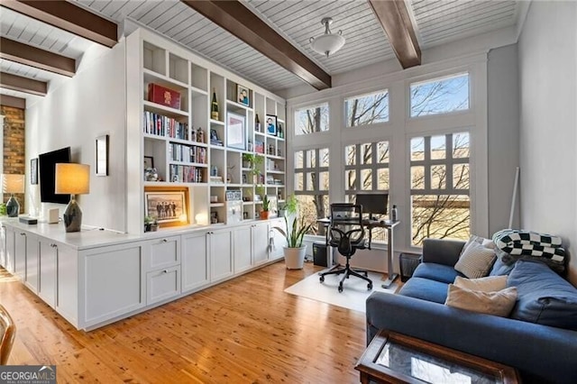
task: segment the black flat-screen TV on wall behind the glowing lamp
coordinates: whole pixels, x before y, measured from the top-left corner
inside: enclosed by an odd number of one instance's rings
[[[42,203],[68,204],[70,201],[70,195],[54,193],[54,187],[56,186],[56,164],[59,162],[70,162],[70,147],[41,153],[38,156],[40,200]]]

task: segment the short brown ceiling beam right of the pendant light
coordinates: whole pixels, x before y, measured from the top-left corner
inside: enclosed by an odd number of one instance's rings
[[[421,49],[404,0],[368,0],[403,69],[421,65]]]

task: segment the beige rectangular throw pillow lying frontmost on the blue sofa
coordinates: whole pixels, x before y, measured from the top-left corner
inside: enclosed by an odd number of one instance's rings
[[[481,292],[449,284],[444,304],[480,314],[507,317],[516,301],[515,287],[501,289],[498,292]]]

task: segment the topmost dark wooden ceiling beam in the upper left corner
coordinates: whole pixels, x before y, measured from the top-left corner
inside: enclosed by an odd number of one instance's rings
[[[116,23],[67,1],[0,0],[0,5],[109,48],[118,42]]]

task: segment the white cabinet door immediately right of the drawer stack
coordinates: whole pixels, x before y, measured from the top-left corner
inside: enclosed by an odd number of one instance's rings
[[[188,292],[210,283],[210,254],[206,232],[182,235],[182,292]]]

